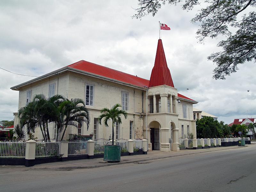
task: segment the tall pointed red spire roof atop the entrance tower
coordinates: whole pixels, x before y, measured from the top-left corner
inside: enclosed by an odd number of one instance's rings
[[[155,87],[159,85],[174,87],[172,76],[165,59],[164,47],[161,39],[158,40],[155,65],[151,72],[148,87]]]

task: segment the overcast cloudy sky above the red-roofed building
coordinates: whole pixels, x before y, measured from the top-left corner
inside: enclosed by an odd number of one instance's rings
[[[219,39],[198,44],[196,10],[166,5],[155,17],[132,19],[137,1],[2,0],[0,1],[0,67],[41,76],[79,60],[149,79],[155,61],[158,21],[174,86],[196,101],[195,108],[231,123],[234,118],[256,118],[256,65],[247,62],[224,80],[213,80],[215,68],[207,60]],[[12,120],[18,91],[11,86],[33,77],[0,69],[0,120]],[[189,90],[187,90],[189,88]],[[250,92],[247,92],[250,90]],[[248,111],[248,112],[247,112]]]

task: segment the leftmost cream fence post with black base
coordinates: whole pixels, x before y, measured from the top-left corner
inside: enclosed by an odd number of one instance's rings
[[[25,166],[31,167],[35,165],[36,158],[36,141],[26,141]]]

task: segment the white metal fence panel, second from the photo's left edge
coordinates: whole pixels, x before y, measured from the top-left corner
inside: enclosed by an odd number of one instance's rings
[[[36,158],[60,155],[60,142],[36,142]]]

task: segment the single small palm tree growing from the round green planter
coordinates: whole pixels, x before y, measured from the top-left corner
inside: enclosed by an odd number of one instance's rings
[[[108,120],[112,120],[112,145],[114,145],[114,124],[118,122],[122,124],[121,115],[124,115],[124,118],[127,118],[127,112],[121,110],[118,107],[122,107],[121,104],[117,103],[112,108],[103,108],[100,110],[101,115],[98,118],[99,124],[101,125],[101,120],[104,118],[104,125],[108,127]]]

